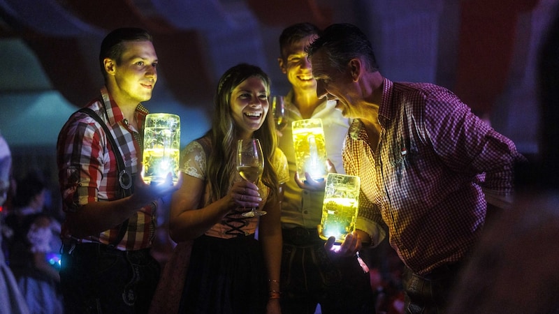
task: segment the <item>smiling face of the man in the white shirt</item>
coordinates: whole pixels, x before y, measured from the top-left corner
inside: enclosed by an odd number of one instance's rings
[[[306,47],[315,38],[317,38],[316,35],[306,36],[284,47],[282,58],[278,59],[279,68],[287,75],[287,80],[293,89],[314,93],[317,88],[317,81],[312,76],[311,64],[307,59],[307,52],[305,52]]]

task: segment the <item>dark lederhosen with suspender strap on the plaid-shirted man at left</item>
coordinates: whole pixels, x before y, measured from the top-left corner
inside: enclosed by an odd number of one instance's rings
[[[91,109],[82,108],[103,127],[117,160],[118,189],[121,198],[133,193],[133,178],[126,172],[115,139],[101,118]],[[64,243],[62,247],[61,285],[67,313],[147,313],[160,267],[150,248],[122,251],[129,220],[119,227],[110,244]]]

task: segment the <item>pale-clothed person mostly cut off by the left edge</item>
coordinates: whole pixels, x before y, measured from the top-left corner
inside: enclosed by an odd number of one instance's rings
[[[0,207],[6,202],[10,189],[12,154],[10,147],[0,134]],[[3,210],[2,210],[3,211]],[[3,244],[3,213],[0,216],[0,244]],[[27,314],[29,308],[17,286],[12,271],[6,264],[3,250],[0,250],[0,314]]]

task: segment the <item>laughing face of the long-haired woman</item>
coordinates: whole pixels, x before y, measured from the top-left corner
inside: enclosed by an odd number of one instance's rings
[[[268,87],[260,77],[252,76],[238,84],[231,93],[231,113],[241,138],[258,130],[268,114]]]

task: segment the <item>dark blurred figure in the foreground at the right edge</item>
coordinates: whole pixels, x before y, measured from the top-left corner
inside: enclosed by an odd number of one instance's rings
[[[559,6],[538,61],[539,153],[516,172],[514,208],[484,234],[449,313],[559,313]]]

